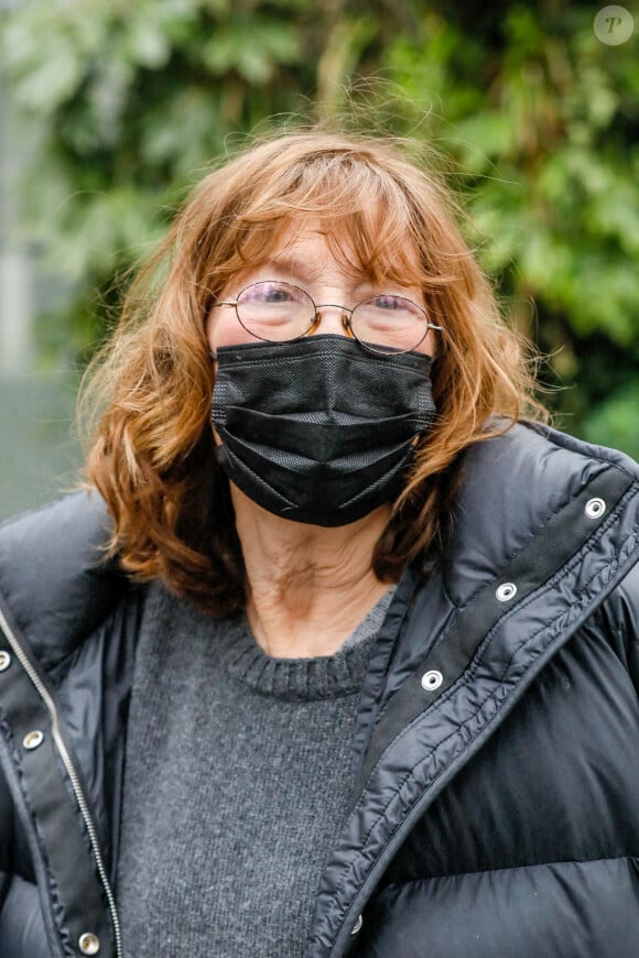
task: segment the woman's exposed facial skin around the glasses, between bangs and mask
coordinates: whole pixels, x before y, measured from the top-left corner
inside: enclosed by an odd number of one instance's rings
[[[246,286],[264,280],[279,280],[299,286],[318,306],[338,304],[323,306],[320,309],[322,319],[308,335],[336,333],[348,336],[343,324],[344,311],[339,307],[345,306],[350,311],[362,300],[380,293],[404,296],[419,306],[424,306],[423,295],[415,286],[402,286],[390,282],[373,285],[361,275],[354,275],[353,269],[347,263],[340,263],[335,259],[323,232],[311,226],[300,229],[288,241],[282,241],[264,262],[247,270],[229,283],[219,298],[220,301],[235,300]],[[416,351],[432,356],[435,335],[433,330],[429,330],[425,338],[414,347]],[[220,346],[256,341],[240,324],[235,306],[231,305],[216,306],[210,311],[207,319],[207,337],[213,352]]]

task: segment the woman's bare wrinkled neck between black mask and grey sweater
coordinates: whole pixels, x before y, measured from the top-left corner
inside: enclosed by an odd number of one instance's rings
[[[388,588],[371,568],[388,507],[323,529],[272,515],[232,485],[231,493],[258,643],[279,658],[332,655]]]

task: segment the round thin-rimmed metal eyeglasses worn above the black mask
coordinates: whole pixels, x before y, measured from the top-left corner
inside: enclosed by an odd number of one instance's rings
[[[337,303],[317,305],[305,290],[280,280],[251,283],[237,298],[214,305],[235,306],[247,333],[267,342],[289,342],[314,333],[322,322],[320,311],[327,306],[342,309],[345,331],[371,352],[410,352],[429,329],[442,329],[429,322],[422,306],[396,293],[377,293],[348,309]]]

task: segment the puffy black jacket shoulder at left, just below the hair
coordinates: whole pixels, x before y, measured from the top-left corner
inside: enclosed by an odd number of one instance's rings
[[[76,492],[0,526],[0,609],[45,666],[86,638],[128,590],[106,560],[107,510]]]

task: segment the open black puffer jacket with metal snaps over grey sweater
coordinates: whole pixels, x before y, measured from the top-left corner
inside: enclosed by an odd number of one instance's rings
[[[376,646],[305,954],[635,958],[639,469],[524,426],[464,468],[447,559]],[[144,590],[100,565],[104,525],[78,494],[0,534],[2,958],[120,954]]]

